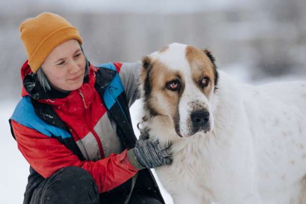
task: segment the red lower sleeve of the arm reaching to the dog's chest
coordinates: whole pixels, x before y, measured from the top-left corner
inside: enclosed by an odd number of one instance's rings
[[[97,161],[80,161],[56,138],[46,136],[14,120],[12,127],[18,149],[31,167],[45,178],[63,167],[81,167],[92,175],[99,193],[103,193],[120,186],[137,172],[128,159],[127,150]]]

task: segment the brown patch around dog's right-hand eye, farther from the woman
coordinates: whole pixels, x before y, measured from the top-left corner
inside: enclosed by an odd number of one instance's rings
[[[193,82],[209,98],[217,79],[213,56],[208,50],[187,46],[186,58],[191,67]]]

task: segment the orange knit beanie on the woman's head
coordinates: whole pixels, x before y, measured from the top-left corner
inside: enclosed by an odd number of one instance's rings
[[[76,39],[82,44],[77,28],[54,13],[40,13],[34,18],[26,19],[19,32],[33,73],[36,73],[56,46],[69,39]]]

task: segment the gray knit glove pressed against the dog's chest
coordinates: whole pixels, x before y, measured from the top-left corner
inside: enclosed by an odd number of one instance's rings
[[[148,131],[144,130],[141,131],[133,150],[140,165],[147,168],[155,168],[172,163],[171,145],[172,142],[168,142],[165,147],[160,147],[159,141],[150,140]]]

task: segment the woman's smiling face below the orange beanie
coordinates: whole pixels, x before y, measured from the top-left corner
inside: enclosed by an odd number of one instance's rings
[[[73,91],[81,87],[85,75],[85,56],[75,39],[55,47],[42,64],[42,69],[59,91]]]

